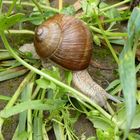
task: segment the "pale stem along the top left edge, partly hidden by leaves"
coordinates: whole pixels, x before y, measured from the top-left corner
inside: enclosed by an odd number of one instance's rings
[[[13,1],[3,1],[3,4],[12,4]],[[30,2],[21,2],[20,3],[21,5],[23,6],[30,6],[30,7],[35,7],[35,5],[33,3],[30,3]],[[52,7],[49,7],[49,6],[46,6],[46,5],[42,5],[42,4],[39,4],[39,6],[43,9],[47,9],[47,10],[51,10],[51,11],[54,11],[56,13],[59,13],[59,10],[56,9],[56,8],[52,8]]]

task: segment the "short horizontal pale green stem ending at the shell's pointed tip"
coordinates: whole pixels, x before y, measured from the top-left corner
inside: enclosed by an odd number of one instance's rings
[[[8,31],[4,31],[5,34],[30,34],[30,35],[34,35],[35,33],[33,31],[30,30],[8,30]]]

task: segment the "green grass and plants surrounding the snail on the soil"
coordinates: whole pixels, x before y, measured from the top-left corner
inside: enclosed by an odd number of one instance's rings
[[[13,140],[49,140],[49,130],[54,131],[56,139],[60,139],[60,137],[62,140],[80,139],[73,126],[81,114],[85,114],[96,130],[96,136],[91,136],[91,139],[127,138],[132,140],[136,137],[140,138],[140,135],[133,130],[140,127],[138,111],[140,106],[136,81],[139,65],[136,67],[135,64],[135,53],[140,36],[140,10],[135,8],[131,12],[129,9],[118,9],[119,6],[123,7],[129,2],[130,0],[124,0],[114,5],[108,5],[94,0],[83,0],[81,3],[82,15],[79,18],[89,26],[92,34],[96,35],[96,41],[99,44],[105,42],[112,54],[112,59],[118,65],[120,77],[110,83],[108,90],[116,95],[121,91],[122,104],[115,104],[113,108],[113,104],[108,104],[110,107],[108,112],[70,86],[72,80],[70,71],[66,72],[66,83],[63,83],[59,68],[44,69],[40,65],[40,60],[33,61],[32,56],[26,54],[23,57],[18,50],[12,47],[6,37],[9,33],[34,35],[34,31],[31,30],[12,28],[14,25],[21,27],[23,21],[34,26],[56,13],[75,16],[77,11],[72,11],[71,7],[63,7],[62,0],[59,0],[59,9],[48,6],[49,2],[43,3],[36,0],[21,3],[18,3],[17,0],[0,1],[0,36],[6,48],[6,50],[0,50],[0,80],[25,75],[12,97],[0,95],[1,100],[7,101],[7,105],[0,111],[1,140],[4,140],[2,133],[4,121],[16,114],[19,114],[19,122]],[[9,10],[5,13],[2,10],[3,5],[10,5]],[[16,11],[17,6],[19,6],[18,11],[20,12]],[[24,7],[33,9],[30,9],[27,15],[22,11]],[[112,8],[114,8],[113,11]],[[14,10],[16,12],[13,14]],[[124,15],[127,15],[127,18]],[[123,20],[128,24],[127,31],[120,32],[116,25]],[[115,37],[116,42],[120,38],[124,42],[119,55],[111,44],[112,37]],[[118,98],[120,98],[119,94]],[[45,112],[48,113],[47,116],[44,115]],[[74,115],[71,112],[74,112]]]

